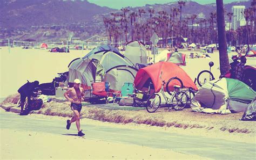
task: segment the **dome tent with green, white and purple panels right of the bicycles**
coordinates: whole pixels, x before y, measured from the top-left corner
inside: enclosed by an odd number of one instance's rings
[[[245,83],[222,78],[204,84],[192,100],[191,108],[196,112],[209,111],[203,108],[211,108],[211,113],[220,113],[221,110],[244,112],[255,96],[256,92]]]

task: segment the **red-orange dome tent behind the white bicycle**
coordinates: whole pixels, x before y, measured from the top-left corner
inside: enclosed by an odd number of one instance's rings
[[[159,92],[161,89],[161,80],[159,78],[161,71],[163,71],[162,79],[167,82],[172,77],[178,77],[183,82],[184,88],[193,88],[194,90],[198,90],[196,84],[192,81],[192,79],[186,74],[186,72],[181,69],[177,64],[171,62],[158,62],[152,64],[151,66],[147,66],[145,68],[139,69],[137,75],[134,79],[134,86],[138,90],[142,90],[144,84],[146,83],[147,79],[151,78],[151,81],[154,85],[155,92]],[[169,86],[169,89],[173,90],[175,81]]]

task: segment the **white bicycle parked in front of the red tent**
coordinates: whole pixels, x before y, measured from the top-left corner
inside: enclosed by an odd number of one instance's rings
[[[158,108],[160,107],[160,104],[161,104],[160,94],[162,94],[162,97],[166,101],[166,105],[163,106],[163,107],[168,107],[169,111],[172,108],[174,108],[174,110],[176,110],[176,111],[183,110],[183,108],[187,105],[187,96],[186,96],[185,91],[179,90],[180,88],[183,88],[182,81],[177,77],[173,77],[173,78],[169,79],[168,84],[170,84],[171,81],[176,79],[176,80],[178,80],[182,83],[182,86],[174,85],[173,86],[173,88],[174,88],[173,92],[170,92],[170,90],[168,90],[167,92],[171,96],[170,98],[168,98],[164,93],[164,86],[165,86],[166,82],[163,81],[163,79],[161,78],[161,75],[162,75],[162,72],[159,76],[161,81],[162,81],[161,89],[158,93],[151,94],[149,99],[147,99],[147,106],[146,106],[147,112],[153,113],[153,112],[156,112],[158,110]],[[167,84],[166,84],[166,86],[167,86],[166,89],[169,88]]]

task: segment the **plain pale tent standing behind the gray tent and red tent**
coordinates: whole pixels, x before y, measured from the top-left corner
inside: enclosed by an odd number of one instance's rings
[[[132,61],[133,64],[147,63],[146,47],[142,42],[132,41],[127,43],[124,55],[127,57],[127,59]]]

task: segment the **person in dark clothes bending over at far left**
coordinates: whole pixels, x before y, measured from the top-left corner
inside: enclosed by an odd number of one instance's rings
[[[35,93],[35,88],[37,88],[39,85],[38,81],[35,82],[27,82],[26,84],[22,85],[21,88],[18,89],[19,94],[21,94],[21,113],[20,115],[24,115],[23,112],[24,103],[26,101],[26,98],[28,97],[28,111],[31,109],[31,96],[33,96]]]

